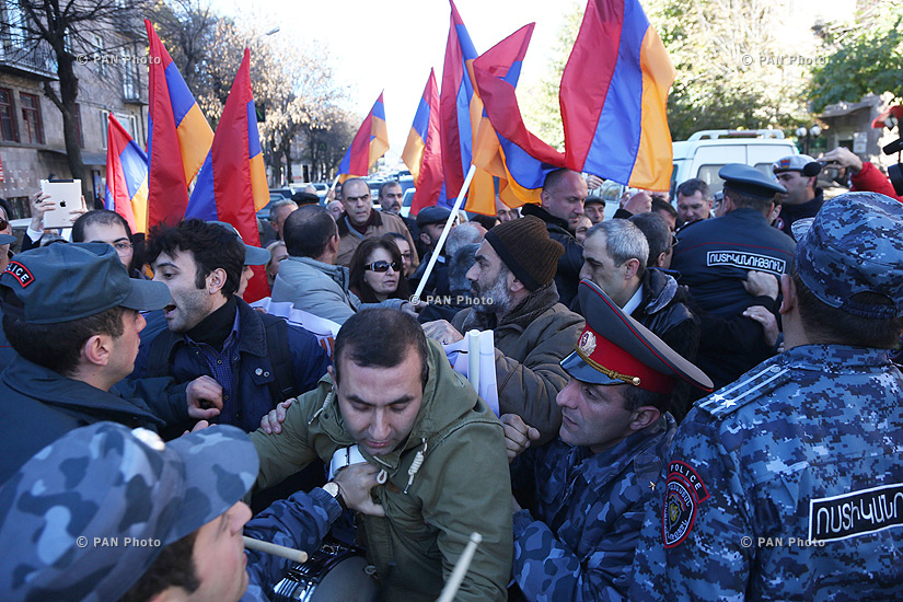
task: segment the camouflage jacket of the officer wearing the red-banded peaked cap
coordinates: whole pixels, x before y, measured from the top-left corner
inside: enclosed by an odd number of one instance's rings
[[[518,459],[516,489],[535,490],[534,512],[514,514],[514,579],[528,600],[624,599],[675,430],[667,414],[598,454],[558,439]]]

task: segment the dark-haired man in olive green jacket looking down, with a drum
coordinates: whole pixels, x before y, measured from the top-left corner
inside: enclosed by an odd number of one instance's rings
[[[432,601],[473,532],[483,536],[455,600],[505,600],[511,572],[511,484],[501,424],[417,321],[395,310],[349,317],[335,364],[273,432],[251,438],[255,487],[315,458],[356,448],[378,473],[372,510],[358,516],[386,600]],[[278,431],[278,432],[277,432]],[[351,451],[350,454],[354,454]],[[341,499],[341,491],[335,491]]]

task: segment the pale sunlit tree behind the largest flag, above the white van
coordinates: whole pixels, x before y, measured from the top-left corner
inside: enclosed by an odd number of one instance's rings
[[[674,140],[701,129],[795,129],[811,120],[807,91],[817,38],[804,14],[788,20],[780,0],[642,4],[678,71],[668,101]],[[584,5],[575,3],[567,12],[546,76],[522,96],[528,127],[559,149],[558,85]]]

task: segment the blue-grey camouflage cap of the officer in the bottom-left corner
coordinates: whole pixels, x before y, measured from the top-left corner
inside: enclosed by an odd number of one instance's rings
[[[163,547],[225,512],[257,476],[238,428],[165,444],[136,431],[114,422],[72,430],[0,488],[0,599],[117,600]]]

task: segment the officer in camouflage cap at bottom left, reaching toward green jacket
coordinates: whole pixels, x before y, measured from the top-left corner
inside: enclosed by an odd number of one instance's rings
[[[0,489],[3,600],[268,601],[290,562],[244,549],[242,528],[314,552],[343,502],[372,505],[375,479],[359,487],[356,468],[341,471],[332,489],[296,494],[248,523],[240,500],[257,465],[234,427],[169,443],[113,422],[69,432]]]

